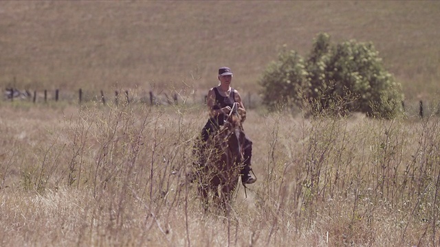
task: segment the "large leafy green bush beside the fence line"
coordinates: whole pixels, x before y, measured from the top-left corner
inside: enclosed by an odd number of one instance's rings
[[[338,108],[338,113],[392,118],[401,113],[404,98],[372,43],[349,40],[332,46],[328,34],[318,34],[307,60],[283,50],[260,84],[267,106],[306,100],[315,114]]]

